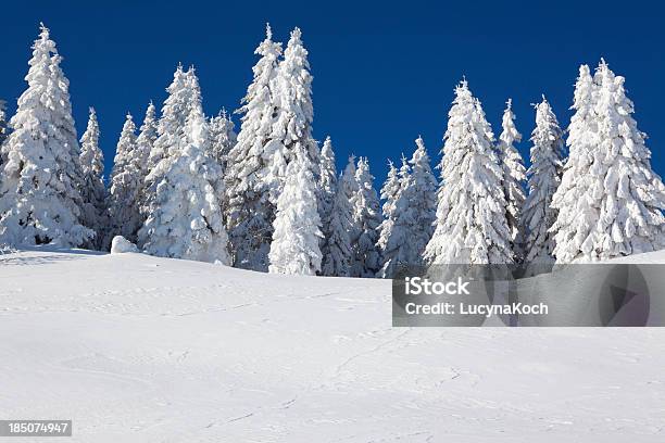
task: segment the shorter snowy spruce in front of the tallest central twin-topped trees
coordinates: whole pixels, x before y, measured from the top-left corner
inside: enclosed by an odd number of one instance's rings
[[[321,270],[321,218],[314,165],[303,151],[287,166],[277,200],[273,242],[268,255],[272,274],[315,275]]]

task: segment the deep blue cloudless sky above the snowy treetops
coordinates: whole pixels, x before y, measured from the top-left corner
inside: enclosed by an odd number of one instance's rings
[[[138,125],[149,100],[161,106],[178,62],[197,66],[206,113],[235,110],[251,80],[265,22],[285,43],[290,29],[300,26],[314,75],[315,137],[332,137],[338,166],[352,152],[367,155],[382,180],[386,159],[411,155],[418,135],[438,163],[453,88],[463,75],[495,135],[504,102],[513,98],[517,128],[525,135],[519,148],[528,156],[530,103],[547,94],[566,126],[579,64],[594,67],[604,56],[627,78],[639,127],[650,136],[654,168],[665,172],[662,7],[638,1],[329,3],[7,3],[0,21],[0,98],[12,113],[43,21],[65,58],[78,134],[93,105],[109,168],[125,113],[131,112]]]

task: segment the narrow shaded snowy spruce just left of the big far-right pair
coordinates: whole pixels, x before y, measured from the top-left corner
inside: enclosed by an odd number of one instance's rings
[[[524,203],[525,264],[554,263],[554,235],[549,232],[556,219],[552,195],[561,183],[563,132],[547,99],[536,105],[536,128],[531,132],[531,166],[527,172],[529,194]]]

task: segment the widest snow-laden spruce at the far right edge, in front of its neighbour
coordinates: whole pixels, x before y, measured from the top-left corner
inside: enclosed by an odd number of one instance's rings
[[[651,168],[651,151],[631,116],[624,80],[601,61],[590,93],[595,122],[570,124],[570,156],[552,200],[559,210],[551,229],[556,263],[605,261],[665,246],[665,187]],[[576,99],[585,96],[580,91]],[[586,105],[576,101],[573,107],[579,112]]]

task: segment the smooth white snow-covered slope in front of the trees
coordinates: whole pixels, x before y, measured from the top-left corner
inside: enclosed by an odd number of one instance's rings
[[[665,441],[665,329],[390,309],[389,281],[0,255],[0,418],[73,419],[87,443]]]

